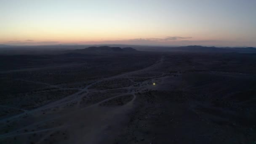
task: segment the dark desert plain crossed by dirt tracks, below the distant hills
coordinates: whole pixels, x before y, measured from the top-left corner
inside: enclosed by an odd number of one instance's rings
[[[255,53],[112,50],[2,55],[0,144],[256,143]]]

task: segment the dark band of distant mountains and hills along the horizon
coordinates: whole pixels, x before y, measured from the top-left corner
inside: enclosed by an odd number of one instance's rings
[[[129,47],[132,46],[133,48]],[[85,48],[88,47],[88,48]],[[121,48],[122,47],[122,48]],[[126,47],[126,48],[123,48]],[[43,49],[60,50],[68,53],[117,53],[138,51],[169,51],[190,53],[256,53],[253,47],[207,47],[200,45],[189,46],[147,46],[147,45],[34,45],[34,46],[12,46],[0,44],[0,53],[13,53],[15,51],[37,51]],[[10,52],[11,51],[11,52]],[[22,52],[23,53],[23,52]]]

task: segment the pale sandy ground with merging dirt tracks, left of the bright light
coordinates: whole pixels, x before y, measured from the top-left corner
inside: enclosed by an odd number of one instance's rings
[[[152,85],[152,81],[155,80],[155,77],[149,77],[149,80],[134,83],[136,86],[130,85],[125,88],[116,88],[125,89],[127,91],[125,93],[117,93],[117,95],[113,96],[110,94],[107,99],[101,101],[95,99],[94,103],[88,105],[86,103],[82,104],[83,99],[91,93],[100,91],[89,88],[92,85],[100,84],[108,80],[115,80],[117,78],[128,77],[131,82],[133,82],[131,79],[133,75],[157,68],[162,64],[163,59],[162,57],[155,64],[144,69],[98,80],[87,85],[77,93],[43,107],[30,111],[26,110],[19,115],[1,119],[1,127],[7,129],[6,125],[8,125],[7,127],[12,131],[8,130],[7,133],[2,133],[0,139],[3,140],[3,143],[30,142],[36,144],[46,142],[61,144],[95,144],[104,143],[104,139],[112,141],[116,135],[110,133],[115,133],[115,131],[117,133],[119,127],[123,126],[122,123],[126,123],[128,120],[127,114],[131,109],[134,109],[133,103],[137,93],[146,91],[146,89],[153,89],[154,85]],[[163,75],[158,77],[163,77]],[[40,84],[58,87],[47,83]],[[115,91],[115,89],[111,90]],[[108,91],[108,89],[101,90],[100,92],[104,93],[104,91]],[[127,95],[130,95],[131,99],[117,99]],[[115,101],[111,102],[112,99],[115,99]]]

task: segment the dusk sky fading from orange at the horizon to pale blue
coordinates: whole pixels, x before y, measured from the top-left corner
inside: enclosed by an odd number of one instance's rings
[[[0,0],[0,44],[256,47],[256,0]]]

